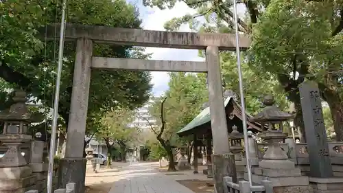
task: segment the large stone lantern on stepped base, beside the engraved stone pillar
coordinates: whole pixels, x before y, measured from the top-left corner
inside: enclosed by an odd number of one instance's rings
[[[261,124],[263,132],[259,133],[259,137],[268,143],[268,149],[259,161],[259,167],[252,168],[252,182],[261,184],[268,179],[272,181],[274,192],[309,191],[309,178],[301,175],[300,169],[295,168],[294,162],[289,161],[287,153],[280,146],[286,138],[283,122],[293,119],[294,115],[283,112],[274,105],[271,95],[264,98],[263,104],[263,111],[251,120]],[[268,129],[265,125],[268,125]]]

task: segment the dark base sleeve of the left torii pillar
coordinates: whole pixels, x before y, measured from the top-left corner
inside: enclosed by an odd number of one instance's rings
[[[65,188],[67,183],[75,183],[75,193],[84,193],[84,179],[86,178],[85,158],[60,159],[58,168],[58,188]]]

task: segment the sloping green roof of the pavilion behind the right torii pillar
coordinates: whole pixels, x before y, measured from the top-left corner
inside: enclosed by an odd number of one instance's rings
[[[224,106],[228,105],[228,102],[230,101],[230,97],[226,98],[224,101]],[[198,126],[201,126],[203,124],[206,124],[208,122],[211,122],[211,113],[210,113],[210,107],[208,106],[206,109],[202,110],[198,116],[196,116],[189,124],[187,124],[184,128],[181,128],[177,134],[184,133],[185,131],[191,130],[193,128],[196,128]]]

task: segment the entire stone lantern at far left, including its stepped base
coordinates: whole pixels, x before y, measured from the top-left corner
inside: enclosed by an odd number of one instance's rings
[[[25,192],[36,188],[36,176],[21,152],[21,146],[32,140],[32,136],[26,135],[30,124],[26,93],[15,91],[13,101],[10,109],[0,113],[0,122],[4,124],[0,141],[8,147],[0,158],[0,192]]]

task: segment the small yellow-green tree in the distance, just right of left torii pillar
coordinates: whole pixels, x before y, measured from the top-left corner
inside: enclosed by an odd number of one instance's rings
[[[98,139],[103,139],[108,149],[107,166],[110,167],[110,158],[113,156],[113,146],[120,148],[121,161],[126,161],[126,150],[129,142],[137,139],[137,128],[130,127],[134,120],[134,113],[130,109],[117,108],[106,113],[101,120],[101,128],[96,133]]]

